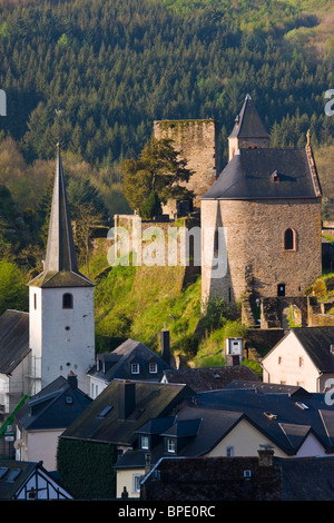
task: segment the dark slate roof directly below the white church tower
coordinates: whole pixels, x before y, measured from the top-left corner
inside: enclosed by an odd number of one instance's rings
[[[32,396],[14,417],[26,431],[67,428],[91,402],[87,394],[59,376]]]

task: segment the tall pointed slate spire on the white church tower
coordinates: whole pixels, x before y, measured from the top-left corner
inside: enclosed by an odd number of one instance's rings
[[[45,268],[29,285],[38,287],[94,285],[78,270],[59,145],[57,145],[57,165]]]

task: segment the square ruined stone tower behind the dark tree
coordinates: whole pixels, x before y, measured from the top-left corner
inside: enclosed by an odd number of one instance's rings
[[[187,160],[187,168],[195,171],[186,186],[196,195],[194,204],[198,206],[198,198],[219,174],[217,122],[209,119],[155,121],[154,137],[173,140],[175,149]]]

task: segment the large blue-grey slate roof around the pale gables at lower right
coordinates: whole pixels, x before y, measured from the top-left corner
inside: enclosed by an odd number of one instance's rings
[[[312,394],[297,386],[233,382],[224,389],[197,393],[187,398],[176,417],[168,418],[167,430],[160,420],[156,420],[160,432],[156,430],[155,434],[160,437],[155,440],[151,448],[141,450],[134,444],[134,450],[119,458],[116,468],[145,467],[147,452],[151,454],[151,464],[156,464],[168,455],[164,436],[184,437],[178,455],[205,456],[242,420],[288,456],[294,456],[311,434],[325,452],[334,453],[334,411],[326,405],[324,394]],[[148,424],[139,426],[136,434],[148,434]]]

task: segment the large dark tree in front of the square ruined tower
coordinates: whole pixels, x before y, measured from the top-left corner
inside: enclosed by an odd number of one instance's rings
[[[190,199],[194,194],[185,184],[194,174],[187,161],[171,146],[171,140],[153,138],[146,144],[138,160],[122,162],[124,194],[135,209],[140,209],[151,194],[163,204],[168,199]]]

